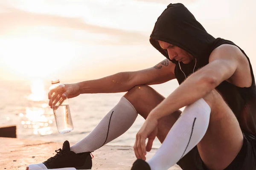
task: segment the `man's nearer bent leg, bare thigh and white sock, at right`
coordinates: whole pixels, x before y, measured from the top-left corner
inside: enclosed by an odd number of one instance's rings
[[[195,118],[194,123],[192,118]],[[189,141],[187,146],[184,141]],[[179,161],[184,148],[189,151],[198,145],[206,166],[210,170],[223,170],[235,159],[242,144],[243,135],[236,117],[221,95],[213,90],[204,99],[186,106],[163,145],[148,164],[153,170],[168,169]],[[190,155],[190,158],[193,156]],[[142,164],[145,165],[142,161],[137,161],[134,168]],[[195,168],[188,167],[187,170]]]

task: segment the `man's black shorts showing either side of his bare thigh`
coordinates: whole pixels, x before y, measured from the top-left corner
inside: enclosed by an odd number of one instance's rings
[[[244,144],[231,164],[224,170],[256,170],[256,137],[243,133]],[[182,170],[209,170],[194,147],[177,164]]]

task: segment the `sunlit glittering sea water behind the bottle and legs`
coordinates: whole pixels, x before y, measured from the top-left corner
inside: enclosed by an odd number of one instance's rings
[[[81,94],[69,99],[74,129],[70,133],[61,134],[57,131],[53,111],[48,105],[50,85],[49,81],[41,79],[0,81],[0,126],[16,125],[17,138],[20,139],[78,142],[98,125],[125,94]],[[151,87],[167,97],[178,87],[178,83],[172,80]],[[108,144],[133,146],[136,133],[144,121],[139,115],[128,131]],[[160,147],[158,139],[155,139],[153,147]]]

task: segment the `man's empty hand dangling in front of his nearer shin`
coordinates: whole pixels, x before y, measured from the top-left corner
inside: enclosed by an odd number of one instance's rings
[[[148,117],[137,133],[134,144],[134,152],[137,159],[146,160],[146,152],[151,150],[153,141],[157,136],[157,123],[157,119]],[[148,143],[145,146],[147,138]]]

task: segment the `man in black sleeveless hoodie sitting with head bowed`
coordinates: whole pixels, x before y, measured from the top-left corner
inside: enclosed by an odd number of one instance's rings
[[[212,37],[180,3],[163,11],[150,42],[167,58],[154,68],[66,85],[62,97],[68,98],[128,92],[88,136],[71,148],[64,142],[54,157],[27,170],[90,169],[90,152],[125,133],[137,113],[146,121],[132,170],[167,170],[175,163],[183,170],[256,170],[256,85],[244,51]],[[147,86],[171,79],[180,86],[166,99]],[[156,136],[163,144],[146,162]]]

